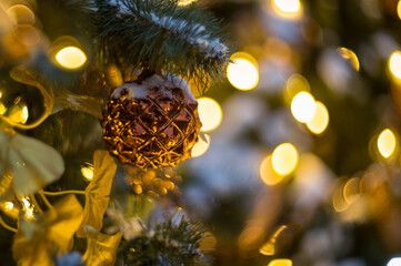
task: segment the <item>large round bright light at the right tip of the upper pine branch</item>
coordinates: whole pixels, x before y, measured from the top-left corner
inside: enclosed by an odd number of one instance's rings
[[[242,53],[239,53],[242,54]],[[251,57],[245,54],[248,58]],[[227,78],[230,83],[241,91],[252,90],[259,82],[259,70],[250,60],[233,54],[231,57],[233,63],[227,66]]]

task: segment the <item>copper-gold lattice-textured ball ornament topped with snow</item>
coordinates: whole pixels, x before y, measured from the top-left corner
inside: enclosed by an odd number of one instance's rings
[[[189,158],[202,125],[188,83],[158,74],[118,86],[101,124],[109,152],[141,168],[174,167]]]

